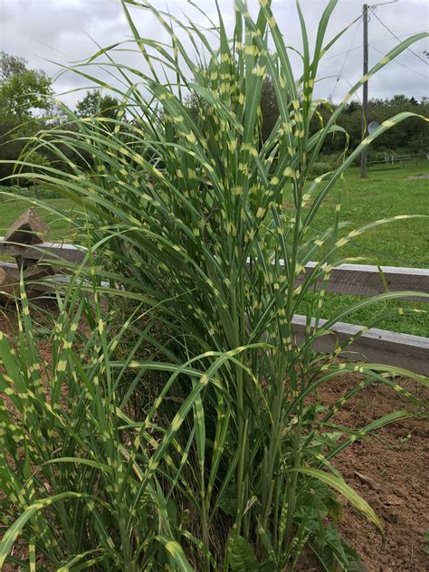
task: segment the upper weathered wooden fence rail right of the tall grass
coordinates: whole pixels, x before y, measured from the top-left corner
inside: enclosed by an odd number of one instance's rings
[[[318,262],[306,264],[306,274],[316,268]],[[429,269],[402,268],[396,266],[380,267],[389,291],[416,291],[429,294]],[[302,272],[297,285],[304,281]],[[318,284],[320,288],[320,283]],[[386,285],[377,266],[366,264],[340,264],[329,273],[327,291],[336,294],[354,294],[356,296],[375,296],[386,292]],[[428,298],[415,296],[406,300],[426,301]]]

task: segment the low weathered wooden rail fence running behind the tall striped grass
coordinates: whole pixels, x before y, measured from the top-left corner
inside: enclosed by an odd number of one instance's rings
[[[41,243],[20,247],[19,255],[34,262],[80,263],[86,254],[82,246],[67,243]],[[0,237],[0,253],[16,255],[16,246],[6,243]],[[10,262],[0,262],[0,269]],[[305,267],[305,276],[314,272],[318,262],[309,262]],[[419,297],[417,292],[429,294],[429,269],[396,268],[382,266],[382,275],[377,266],[364,264],[341,264],[330,272],[327,291],[337,294],[374,296],[389,291],[415,291],[415,298],[407,300],[429,301]],[[301,273],[297,285],[304,280]],[[319,288],[320,284],[316,284]],[[311,322],[314,325],[314,319]],[[319,320],[319,325],[326,320]],[[293,327],[297,342],[303,340],[306,330],[306,317],[296,315]],[[362,332],[360,335],[359,332]],[[336,347],[344,345],[351,337],[358,335],[345,350],[344,356],[350,359],[366,360],[390,366],[405,367],[418,374],[429,376],[429,338],[397,333],[386,329],[366,329],[363,326],[337,322],[329,328],[327,335],[318,338],[314,348],[321,353],[330,353]]]

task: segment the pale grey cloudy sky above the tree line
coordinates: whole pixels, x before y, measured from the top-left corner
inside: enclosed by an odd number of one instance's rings
[[[205,14],[215,18],[214,0],[197,0]],[[396,36],[407,35],[429,28],[429,3],[427,0],[397,0],[378,4],[370,13],[369,64],[382,58],[396,43]],[[160,9],[171,14],[192,14],[196,22],[202,22],[201,14],[189,8],[186,0],[152,0]],[[224,21],[233,24],[233,0],[219,0]],[[362,0],[339,0],[334,12],[328,36],[338,33],[362,11]],[[255,0],[250,0],[255,6]],[[319,16],[326,0],[301,0],[310,33],[314,41]],[[300,31],[294,0],[274,0],[273,12],[284,33],[287,43],[300,48]],[[138,10],[135,22],[142,36],[167,40],[160,24]],[[31,67],[41,68],[54,78],[58,64],[69,64],[89,57],[98,50],[97,44],[107,46],[129,38],[130,32],[119,0],[0,0],[0,51],[24,57]],[[369,83],[370,97],[386,98],[396,93],[405,93],[420,99],[429,96],[429,59],[424,51],[429,43],[420,41],[412,51],[403,52],[396,60],[380,71]],[[122,62],[145,66],[137,55],[121,52],[117,57]],[[298,73],[297,68],[297,73]],[[341,40],[331,48],[319,68],[318,95],[340,100],[348,91],[349,82],[358,80],[362,74],[362,23],[355,24]],[[74,107],[90,86],[72,72],[62,74],[54,81],[55,91],[62,100]],[[71,91],[71,92],[70,92]]]

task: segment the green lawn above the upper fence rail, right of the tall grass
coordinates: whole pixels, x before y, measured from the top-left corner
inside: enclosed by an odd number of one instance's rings
[[[348,169],[340,190],[341,220],[358,227],[395,215],[429,215],[429,179],[408,177],[429,174],[429,161],[406,168],[382,167],[361,179],[359,169]],[[315,224],[331,224],[338,189],[319,210]],[[365,256],[367,263],[429,268],[429,220],[402,220],[362,234],[343,247],[347,256]]]

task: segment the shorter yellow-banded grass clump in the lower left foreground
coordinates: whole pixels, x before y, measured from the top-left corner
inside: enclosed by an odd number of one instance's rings
[[[167,374],[164,393],[177,377],[196,388],[167,428],[157,426],[163,395],[136,423],[128,415],[130,395],[119,399],[120,386],[126,371],[129,386],[141,382],[142,370],[130,358],[112,358],[135,313],[118,329],[111,316],[102,316],[94,281],[88,289],[91,299],[73,279],[59,299],[49,355],[35,341],[45,328],[31,318],[24,282],[16,336],[0,334],[0,569],[8,562],[62,572],[190,571],[177,539],[196,539],[180,530],[175,516],[182,479],[167,448],[185,454],[175,435],[195,395],[243,349],[212,352],[205,372],[193,365],[204,356],[180,367],[147,361],[145,372]],[[131,356],[139,343],[129,348]],[[175,478],[157,474],[161,457]]]

